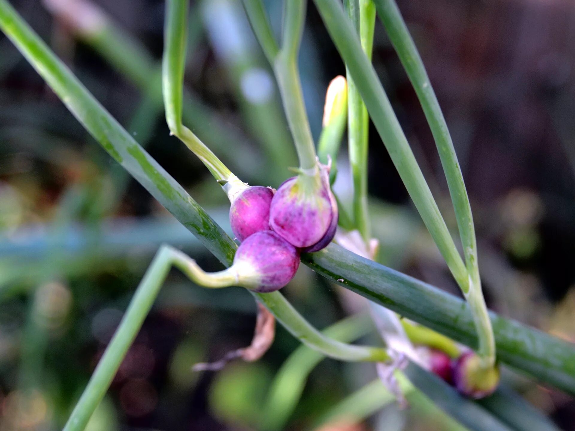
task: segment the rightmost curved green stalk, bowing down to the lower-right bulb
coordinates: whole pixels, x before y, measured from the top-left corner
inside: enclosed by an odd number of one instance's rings
[[[453,201],[467,272],[470,275],[470,287],[466,293],[466,299],[469,301],[471,309],[474,310],[477,331],[480,333],[478,353],[485,359],[485,365],[492,367],[495,363],[496,353],[493,329],[490,325],[485,300],[481,292],[481,279],[477,263],[477,240],[473,226],[471,205],[465,183],[463,182],[463,174],[455,154],[455,148],[453,147],[453,141],[435,96],[435,91],[423,66],[423,61],[421,61],[419,52],[395,0],[374,1],[377,5],[379,19],[383,22],[389,39],[401,60],[401,64],[405,68],[409,80],[411,80],[435,139],[451,200]]]

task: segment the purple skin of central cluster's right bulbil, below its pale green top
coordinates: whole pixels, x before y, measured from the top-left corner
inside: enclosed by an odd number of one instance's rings
[[[333,225],[331,191],[324,187],[320,193],[309,197],[299,192],[296,176],[278,188],[271,200],[270,226],[275,233],[294,247],[305,249],[322,241]],[[337,225],[337,220],[335,220],[335,225]],[[333,234],[335,234],[335,229],[333,229]],[[329,241],[325,242],[325,245]]]

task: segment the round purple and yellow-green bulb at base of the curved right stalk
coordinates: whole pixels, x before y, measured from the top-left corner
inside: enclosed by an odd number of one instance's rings
[[[483,370],[480,357],[475,352],[459,356],[453,367],[453,382],[459,393],[480,399],[491,395],[499,384],[499,368]]]

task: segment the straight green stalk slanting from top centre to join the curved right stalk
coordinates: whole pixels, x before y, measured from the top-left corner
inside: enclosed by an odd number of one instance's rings
[[[469,290],[465,264],[343,7],[335,0],[315,0],[315,3],[425,226],[459,286],[463,291]]]

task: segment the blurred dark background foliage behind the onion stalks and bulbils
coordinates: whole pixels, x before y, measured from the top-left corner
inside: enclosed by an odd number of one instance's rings
[[[110,19],[98,34],[78,32],[57,13],[62,0],[11,3],[136,140],[227,226],[227,198],[200,161],[168,135],[164,121],[159,86],[164,2],[97,0]],[[489,307],[575,341],[575,3],[402,0],[398,5],[453,134],[476,219]],[[266,6],[279,31],[281,2]],[[290,176],[287,167],[296,165],[295,153],[273,75],[240,2],[192,2],[189,38],[185,124],[240,178],[277,187]],[[373,61],[444,217],[455,228],[430,130],[379,23]],[[344,66],[313,3],[300,68],[317,139],[325,88],[344,74]],[[458,294],[377,133],[370,136],[369,190],[379,259]],[[346,166],[343,151],[335,189],[344,206],[351,192]],[[208,270],[220,268],[94,145],[0,36],[0,430],[61,428],[164,242]],[[363,307],[354,294],[306,267],[284,292],[318,328]],[[274,375],[298,347],[281,327],[259,362],[191,372],[198,361],[247,345],[254,321],[255,304],[244,290],[203,290],[174,271],[89,429],[461,429],[417,395],[409,399],[411,408],[400,410],[389,405],[385,391],[370,386],[363,388],[372,391],[367,398],[357,398],[363,401],[347,398],[349,415],[334,416],[334,406],[347,411],[338,403],[375,374],[373,366],[333,360],[310,371],[293,414],[281,403],[269,409]],[[377,340],[371,334],[366,342]],[[293,369],[305,382],[305,353],[300,357]],[[568,395],[507,370],[503,380],[561,428],[575,429],[575,401]]]

